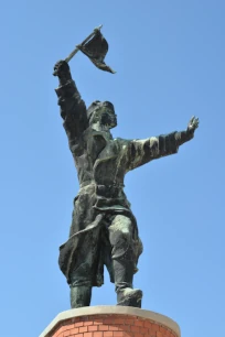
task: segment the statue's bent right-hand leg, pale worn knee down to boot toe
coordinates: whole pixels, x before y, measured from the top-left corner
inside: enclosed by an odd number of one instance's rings
[[[132,221],[126,216],[118,215],[108,229],[109,241],[113,247],[117,305],[141,307],[142,292],[132,289],[136,270]]]

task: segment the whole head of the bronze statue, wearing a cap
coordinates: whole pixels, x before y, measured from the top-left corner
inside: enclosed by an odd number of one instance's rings
[[[87,118],[90,126],[100,123],[108,129],[117,126],[117,116],[113,104],[109,101],[94,101],[87,109]]]

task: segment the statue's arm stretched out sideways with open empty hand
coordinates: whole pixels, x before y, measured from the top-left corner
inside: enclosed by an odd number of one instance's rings
[[[199,127],[199,119],[192,117],[188,129],[181,132],[172,132],[144,140],[132,140],[128,145],[128,171],[141,166],[154,159],[176,153],[179,146],[194,137]]]

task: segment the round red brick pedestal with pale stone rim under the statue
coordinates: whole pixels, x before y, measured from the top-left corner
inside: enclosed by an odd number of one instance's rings
[[[181,337],[172,319],[128,306],[90,306],[63,312],[40,337]]]

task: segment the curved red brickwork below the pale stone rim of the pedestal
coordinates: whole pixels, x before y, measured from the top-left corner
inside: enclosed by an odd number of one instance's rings
[[[46,337],[178,337],[157,322],[130,315],[93,315],[58,323]]]

